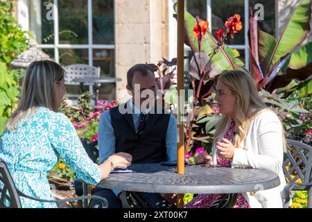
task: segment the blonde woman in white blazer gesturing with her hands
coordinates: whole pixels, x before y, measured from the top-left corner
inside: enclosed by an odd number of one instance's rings
[[[281,167],[286,140],[279,117],[266,108],[247,71],[223,71],[216,89],[216,101],[223,117],[216,124],[213,155],[202,152],[196,156],[196,163],[218,164],[217,159],[223,158],[230,161],[231,167],[267,169],[277,173],[281,182],[278,187],[241,194],[241,199],[248,202],[241,207],[283,207],[281,194],[286,181]],[[233,121],[234,133],[230,142],[224,137]],[[212,201],[212,195],[200,194],[187,207],[205,207]],[[236,207],[240,207],[239,201],[242,200],[238,198]]]

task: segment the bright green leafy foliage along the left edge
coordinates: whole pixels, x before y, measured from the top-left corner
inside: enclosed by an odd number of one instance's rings
[[[26,32],[15,21],[14,0],[0,1],[0,135],[19,96],[21,71],[8,69],[10,62],[27,49]]]

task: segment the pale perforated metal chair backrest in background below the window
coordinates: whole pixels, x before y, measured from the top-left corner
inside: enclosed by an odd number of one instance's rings
[[[86,64],[73,64],[64,67],[66,71],[65,85],[80,85],[80,83],[73,82],[74,78],[99,78],[100,67],[93,67]]]

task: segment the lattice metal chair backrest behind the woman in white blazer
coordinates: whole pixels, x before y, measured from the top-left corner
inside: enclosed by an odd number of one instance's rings
[[[287,145],[287,158],[283,162],[285,177],[289,182],[300,179],[308,184],[312,181],[312,147],[292,139],[287,139]]]

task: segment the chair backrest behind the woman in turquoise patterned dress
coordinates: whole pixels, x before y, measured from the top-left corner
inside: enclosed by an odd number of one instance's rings
[[[0,208],[21,208],[17,189],[6,163],[0,160]]]

